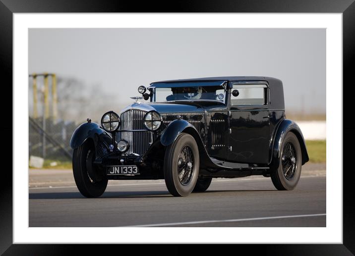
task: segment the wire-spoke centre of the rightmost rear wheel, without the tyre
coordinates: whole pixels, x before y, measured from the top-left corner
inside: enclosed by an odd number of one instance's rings
[[[297,169],[296,149],[291,142],[287,142],[282,152],[282,171],[285,178],[291,180]]]

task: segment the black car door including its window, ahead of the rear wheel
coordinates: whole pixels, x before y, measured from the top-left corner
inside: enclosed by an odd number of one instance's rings
[[[230,161],[268,163],[268,94],[265,82],[232,82],[228,139]]]

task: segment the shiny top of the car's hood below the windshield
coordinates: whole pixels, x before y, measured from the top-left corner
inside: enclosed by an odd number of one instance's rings
[[[155,110],[159,113],[186,113],[186,112],[204,112],[205,108],[196,102],[134,102],[126,106],[120,113],[123,113],[129,109],[138,109],[142,111]]]

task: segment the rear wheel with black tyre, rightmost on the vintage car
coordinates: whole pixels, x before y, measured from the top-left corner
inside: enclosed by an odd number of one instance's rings
[[[271,180],[278,190],[293,190],[301,175],[302,154],[298,139],[289,132],[282,142],[279,166],[271,171]]]

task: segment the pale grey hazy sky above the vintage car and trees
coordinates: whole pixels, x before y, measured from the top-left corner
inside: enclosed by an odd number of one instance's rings
[[[29,30],[30,73],[100,85],[119,105],[158,80],[272,76],[284,83],[286,110],[325,113],[325,54],[325,29]]]

